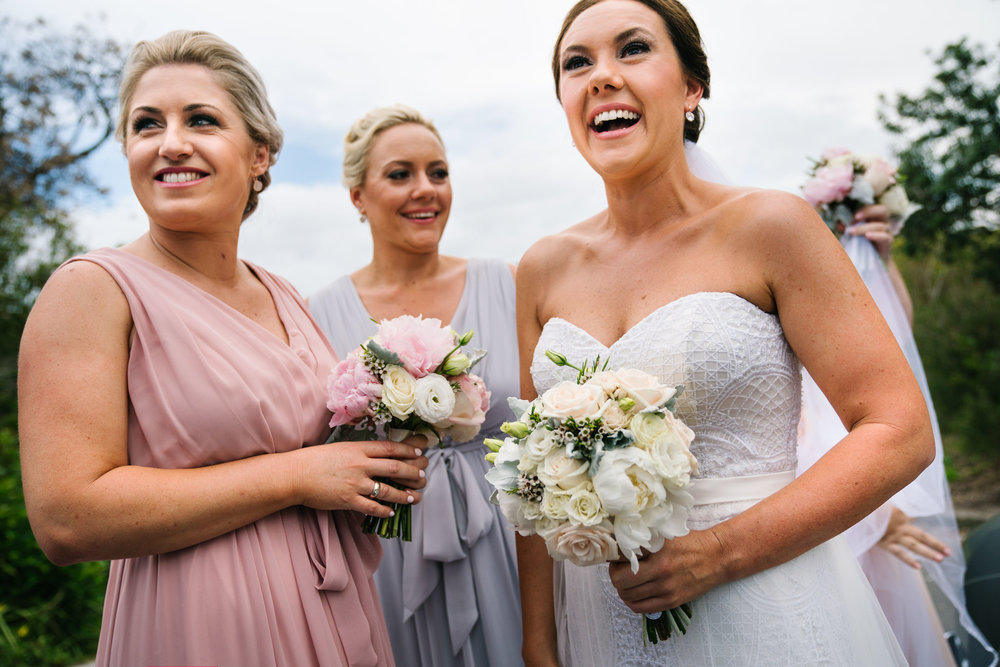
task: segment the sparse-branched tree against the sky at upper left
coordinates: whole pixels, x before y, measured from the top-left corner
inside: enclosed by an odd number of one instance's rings
[[[0,414],[28,309],[79,250],[67,207],[101,191],[85,161],[111,136],[123,54],[83,26],[0,18]]]

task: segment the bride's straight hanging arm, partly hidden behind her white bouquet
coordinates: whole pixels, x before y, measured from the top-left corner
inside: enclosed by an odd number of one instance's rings
[[[537,397],[531,378],[531,358],[541,334],[539,317],[541,292],[547,284],[534,261],[538,247],[530,249],[517,270],[517,338],[521,365],[521,398]],[[524,641],[521,653],[527,667],[557,665],[555,603],[553,600],[552,558],[537,535],[516,536],[517,572],[521,587],[521,624]]]

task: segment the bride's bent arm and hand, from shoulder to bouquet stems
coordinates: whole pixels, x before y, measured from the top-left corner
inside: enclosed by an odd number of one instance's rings
[[[705,531],[668,540],[633,575],[612,580],[635,611],[654,612],[786,562],[842,532],[913,480],[934,455],[923,397],[846,254],[808,205],[757,196],[734,227],[734,275],[773,303],[789,344],[848,435],[787,487]]]

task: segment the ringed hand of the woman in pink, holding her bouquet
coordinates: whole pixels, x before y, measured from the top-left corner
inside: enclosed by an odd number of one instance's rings
[[[383,503],[420,502],[420,493],[415,489],[426,484],[427,457],[414,442],[423,444],[425,440],[335,442],[289,452],[293,458],[289,483],[297,499],[295,504],[385,518],[392,516],[392,510]],[[392,479],[404,488],[379,484],[375,500],[371,493],[377,478]]]

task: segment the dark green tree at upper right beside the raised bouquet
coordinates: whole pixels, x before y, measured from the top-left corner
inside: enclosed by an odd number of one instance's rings
[[[934,62],[923,93],[881,98],[880,119],[903,142],[907,192],[923,207],[907,221],[902,247],[971,261],[1000,286],[1000,50],[963,39]]]

